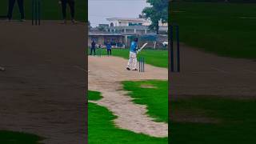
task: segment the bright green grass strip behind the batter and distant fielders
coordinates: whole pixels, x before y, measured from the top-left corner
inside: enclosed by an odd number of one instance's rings
[[[97,50],[96,52],[98,52]],[[90,54],[90,49],[89,49]],[[129,50],[128,49],[112,49],[113,56],[121,57],[121,58],[129,58]],[[106,55],[106,49],[102,49],[102,55]],[[141,53],[138,54],[138,58],[145,58],[145,62],[152,66],[158,67],[168,67],[168,50],[142,50]]]

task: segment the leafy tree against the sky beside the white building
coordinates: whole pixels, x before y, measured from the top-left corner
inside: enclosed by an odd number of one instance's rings
[[[159,34],[159,22],[168,22],[168,1],[169,0],[146,0],[150,7],[144,8],[142,14],[151,21],[150,29],[156,30]]]

